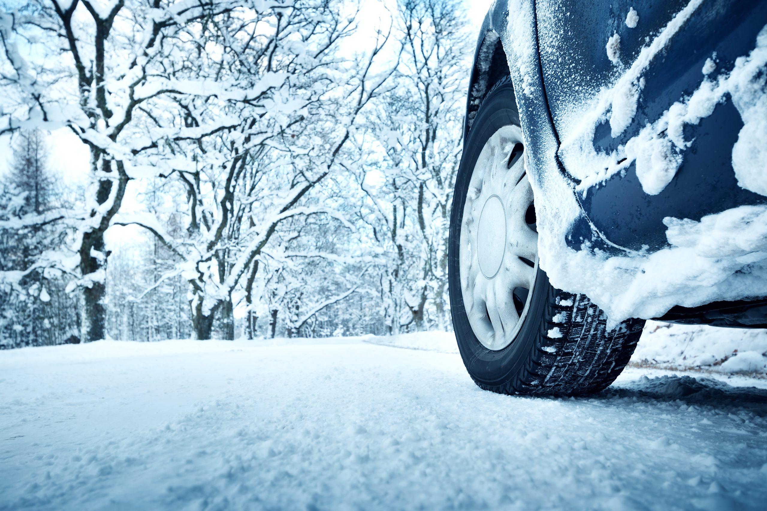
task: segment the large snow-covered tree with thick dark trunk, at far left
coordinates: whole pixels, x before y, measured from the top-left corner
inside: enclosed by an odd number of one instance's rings
[[[60,267],[75,277],[84,340],[105,336],[104,233],[128,182],[161,174],[166,166],[158,165],[156,149],[169,141],[189,139],[190,131],[199,139],[239,123],[229,116],[205,126],[184,123],[197,98],[248,103],[262,93],[215,80],[213,70],[198,72],[216,24],[236,9],[258,11],[262,3],[33,0],[18,11],[0,11],[0,87],[6,92],[0,135],[66,126],[91,152],[84,208],[62,218],[77,228],[70,254],[49,252],[32,265]]]

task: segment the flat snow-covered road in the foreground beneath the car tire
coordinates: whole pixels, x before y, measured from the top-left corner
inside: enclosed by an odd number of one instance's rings
[[[765,509],[767,382],[670,374],[542,399],[359,339],[0,352],[0,509]]]

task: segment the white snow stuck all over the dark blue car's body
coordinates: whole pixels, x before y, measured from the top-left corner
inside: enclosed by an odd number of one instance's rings
[[[767,149],[763,143],[767,139],[767,29],[759,33],[753,50],[738,58],[729,70],[719,67],[712,54],[700,75],[700,87],[690,97],[681,97],[624,146],[614,152],[594,148],[597,126],[608,122],[616,137],[632,123],[642,99],[645,70],[701,4],[693,0],[677,12],[655,38],[646,42],[636,60],[617,74],[611,87],[592,95],[578,93],[567,112],[553,113],[561,124],[561,146],[553,139],[545,140],[537,157],[528,155],[528,166],[537,174],[533,188],[540,266],[555,287],[589,296],[607,314],[611,326],[630,317],[661,316],[676,305],[742,300],[763,296],[767,290],[767,222],[761,206],[734,208],[700,221],[665,218],[668,246],[652,254],[617,246],[622,254],[606,254],[588,241],[578,251],[568,247],[571,225],[583,215],[575,193],[584,196],[588,188],[635,163],[644,191],[657,194],[673,179],[690,147],[691,141],[683,136],[684,126],[699,123],[726,97],[732,97],[744,123],[732,148],[738,184],[767,195]],[[511,41],[524,38],[528,28],[521,25],[510,15]],[[522,74],[533,69],[516,64],[510,68],[512,78],[519,83]],[[535,126],[525,109],[525,98],[518,97],[517,101],[523,128]],[[578,185],[561,175],[555,155]],[[545,201],[538,200],[542,198]],[[596,231],[595,235],[601,236]],[[599,241],[613,245],[604,238]]]

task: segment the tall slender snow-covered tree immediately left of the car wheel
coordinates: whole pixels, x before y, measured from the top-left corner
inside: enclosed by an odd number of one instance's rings
[[[358,178],[362,217],[391,247],[381,293],[391,332],[449,328],[449,205],[460,162],[469,47],[455,0],[398,5],[403,52],[397,87],[382,98],[369,133],[383,156]],[[372,172],[370,172],[372,171]]]

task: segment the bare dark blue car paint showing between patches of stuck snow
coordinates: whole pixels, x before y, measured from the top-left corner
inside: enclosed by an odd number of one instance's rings
[[[596,88],[611,84],[617,73],[605,50],[611,34],[621,35],[621,55],[626,66],[630,66],[641,48],[686,5],[687,2],[676,0],[537,0],[534,8],[540,75],[536,77],[538,83],[533,84],[535,93],[517,97],[528,133],[559,139],[558,120],[573,100],[572,90],[579,85]],[[630,7],[639,14],[636,28],[628,28],[624,23]],[[507,13],[507,2],[495,3],[482,25],[477,55],[485,41],[492,41],[486,38],[488,31],[499,34],[500,42],[509,47]],[[703,80],[703,64],[713,52],[716,51],[717,64],[713,76],[731,69],[737,57],[752,50],[756,34],[765,24],[767,2],[703,2],[645,70],[646,85],[633,123],[615,139],[607,123],[597,127],[594,147],[614,150],[645,124],[656,121],[674,102],[693,93]],[[567,37],[557,38],[557,34]],[[497,70],[489,70],[486,88],[492,86],[494,72]],[[475,94],[481,74],[475,64],[470,88]],[[476,98],[470,95],[467,120],[476,103]],[[525,112],[531,114],[525,116]],[[741,127],[740,115],[727,97],[716,106],[713,115],[686,129],[686,139],[693,143],[683,153],[683,165],[676,177],[660,194],[647,195],[642,190],[634,165],[624,175],[614,175],[589,188],[585,197],[579,193],[583,216],[575,222],[568,244],[579,249],[582,241],[589,241],[592,247],[596,243],[614,254],[621,253],[615,246],[634,250],[644,246],[657,251],[667,246],[665,217],[700,220],[704,215],[738,205],[765,203],[764,196],[740,188],[732,170],[732,145]],[[536,137],[531,137],[525,149],[535,156],[558,159],[555,155],[539,154],[543,148],[537,147],[535,141]],[[561,164],[560,168],[566,172]],[[535,174],[535,169],[532,172]],[[594,228],[600,235],[595,235]],[[610,244],[600,243],[602,238]]]

